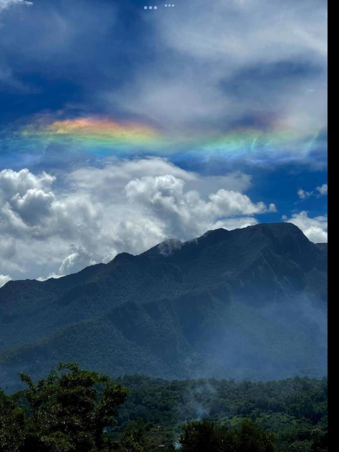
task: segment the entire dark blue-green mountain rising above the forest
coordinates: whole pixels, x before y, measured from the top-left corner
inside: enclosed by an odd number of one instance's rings
[[[291,223],[209,231],[0,289],[0,386],[60,361],[118,376],[326,373],[327,247]]]

